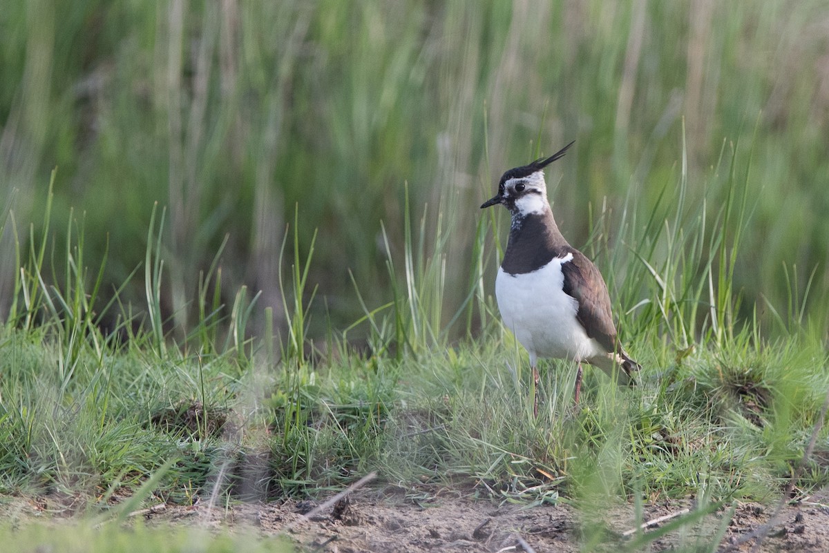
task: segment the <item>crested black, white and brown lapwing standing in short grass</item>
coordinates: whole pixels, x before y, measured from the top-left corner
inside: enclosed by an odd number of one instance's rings
[[[536,416],[539,358],[578,363],[576,404],[583,362],[627,386],[636,385],[634,374],[641,369],[619,343],[608,286],[599,269],[567,242],[547,200],[544,169],[563,157],[574,142],[552,156],[506,171],[497,194],[481,205],[485,209],[500,204],[511,215],[495,295],[504,324],[530,355]]]

